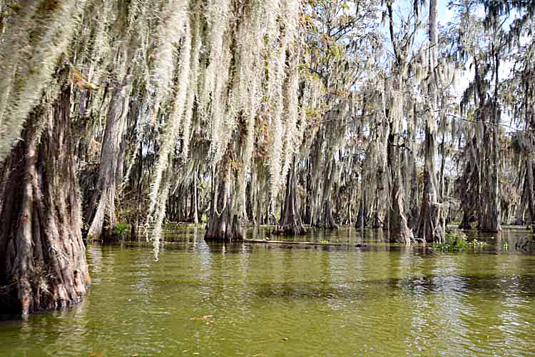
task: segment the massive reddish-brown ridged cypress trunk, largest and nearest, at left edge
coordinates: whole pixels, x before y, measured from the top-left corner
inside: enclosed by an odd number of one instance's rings
[[[4,162],[0,190],[0,311],[31,313],[77,303],[90,283],[81,238],[71,90],[29,116]]]

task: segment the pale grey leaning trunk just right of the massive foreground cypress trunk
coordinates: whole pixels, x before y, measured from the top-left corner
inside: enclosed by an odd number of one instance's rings
[[[111,230],[115,226],[118,156],[126,124],[125,114],[130,96],[129,87],[127,80],[125,80],[122,84],[116,84],[113,89],[106,118],[98,181],[86,212],[86,222],[89,222],[87,236],[91,238],[101,237],[104,241],[112,238]]]

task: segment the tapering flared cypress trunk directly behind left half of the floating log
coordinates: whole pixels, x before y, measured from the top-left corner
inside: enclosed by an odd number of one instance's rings
[[[301,216],[297,209],[297,172],[295,170],[295,156],[292,161],[292,169],[286,179],[286,195],[284,208],[280,218],[280,231],[278,233],[287,236],[302,236],[307,230],[302,226]]]

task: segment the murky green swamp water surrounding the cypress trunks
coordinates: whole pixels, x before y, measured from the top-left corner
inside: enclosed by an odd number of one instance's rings
[[[188,228],[158,262],[149,247],[90,246],[86,300],[0,321],[0,356],[535,356],[523,236],[449,254],[381,231],[307,238],[350,246],[213,246]]]

